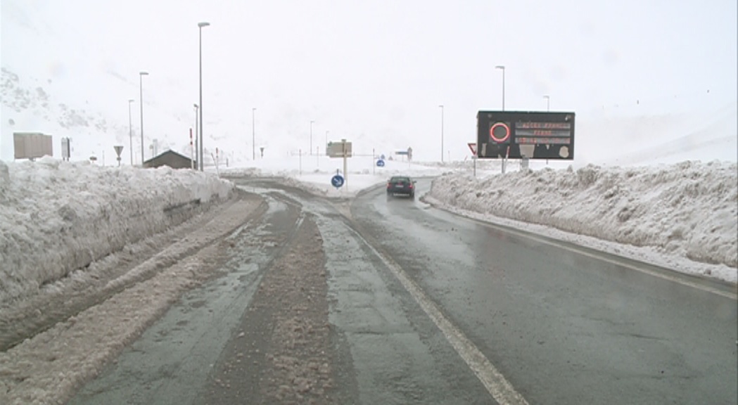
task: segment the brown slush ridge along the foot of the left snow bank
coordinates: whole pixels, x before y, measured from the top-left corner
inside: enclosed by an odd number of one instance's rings
[[[183,291],[212,277],[219,252],[227,248],[222,244],[224,235],[259,215],[261,204],[260,198],[241,195],[223,210],[215,208],[213,213],[218,215],[206,215],[201,228],[190,229],[151,260],[103,283],[100,290],[81,291],[72,313],[52,316],[51,328],[0,353],[0,403],[63,404],[179,300]],[[90,294],[89,301],[84,300],[85,294]],[[62,296],[53,299],[63,307]],[[80,305],[86,309],[80,311]],[[13,325],[5,322],[12,330]],[[38,325],[30,328],[24,333]]]

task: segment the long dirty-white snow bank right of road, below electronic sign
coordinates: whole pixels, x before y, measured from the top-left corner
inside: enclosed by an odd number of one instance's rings
[[[738,267],[738,165],[523,170],[484,179],[450,174],[430,196],[463,210],[649,246]]]

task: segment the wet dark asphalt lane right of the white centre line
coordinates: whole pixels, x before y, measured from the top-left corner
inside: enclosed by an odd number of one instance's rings
[[[723,297],[383,193],[359,198],[355,221],[528,403],[737,403],[734,288],[683,277]]]

